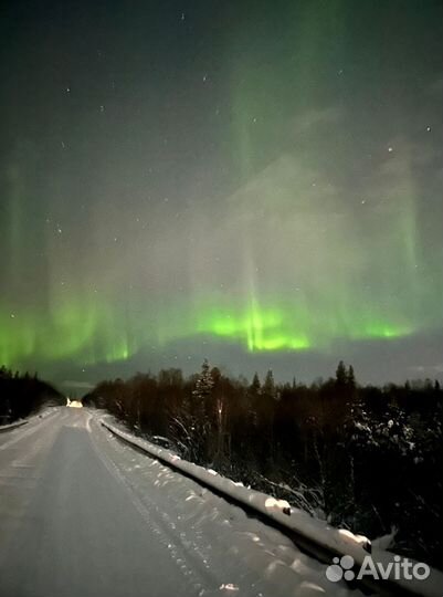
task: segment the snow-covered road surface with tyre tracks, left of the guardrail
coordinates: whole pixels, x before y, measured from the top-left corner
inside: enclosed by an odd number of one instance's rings
[[[87,409],[0,436],[1,597],[360,596]]]

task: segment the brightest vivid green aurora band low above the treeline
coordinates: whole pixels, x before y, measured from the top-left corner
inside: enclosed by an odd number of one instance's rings
[[[340,325],[326,313],[316,314],[300,304],[297,307],[296,302],[289,308],[283,303],[262,307],[257,300],[250,301],[247,307],[217,307],[215,296],[214,300],[213,306],[204,308],[200,304],[194,312],[180,312],[179,306],[167,305],[165,321],[172,325],[165,326],[160,337],[152,332],[152,322],[146,314],[130,331],[116,316],[118,308],[99,305],[97,301],[60,305],[50,318],[39,313],[3,310],[0,360],[14,365],[39,354],[51,362],[75,358],[85,365],[115,363],[130,358],[138,348],[159,339],[167,345],[173,338],[194,335],[239,343],[250,353],[307,350],[327,348],[334,338],[389,339],[414,331],[401,317],[395,323],[395,318],[389,322],[372,315],[370,320],[367,313],[348,312]]]

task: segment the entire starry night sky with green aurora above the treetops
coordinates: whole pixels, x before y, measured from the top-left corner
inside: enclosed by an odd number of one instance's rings
[[[2,2],[0,363],[443,379],[431,0]]]

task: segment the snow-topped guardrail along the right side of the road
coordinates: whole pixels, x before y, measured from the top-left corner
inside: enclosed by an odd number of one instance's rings
[[[338,530],[329,526],[325,521],[313,519],[308,513],[291,507],[285,500],[276,500],[265,493],[247,489],[231,479],[226,479],[217,473],[217,471],[204,469],[181,460],[178,454],[159,448],[147,440],[136,438],[131,433],[119,429],[118,427],[101,419],[103,427],[108,429],[115,436],[124,439],[128,443],[139,448],[147,454],[165,462],[181,473],[194,479],[202,485],[213,489],[215,492],[225,495],[229,500],[242,504],[274,522],[276,526],[289,531],[294,540],[308,553],[318,559],[331,563],[333,556],[351,556],[356,567],[363,564],[369,555],[376,565],[386,566],[392,562],[394,554],[380,549],[376,546],[363,548],[366,537],[354,535],[349,531]],[[368,546],[370,542],[368,541]],[[398,559],[399,558],[399,559]],[[401,563],[405,558],[395,556],[395,562]],[[414,562],[409,559],[409,562]],[[365,584],[381,588],[379,580],[365,578]],[[443,574],[431,568],[431,574],[426,579],[392,579],[382,582],[386,588],[389,586],[394,590],[403,590],[409,595],[423,597],[441,597],[443,588]]]

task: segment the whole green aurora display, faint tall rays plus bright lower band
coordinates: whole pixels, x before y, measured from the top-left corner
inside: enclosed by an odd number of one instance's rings
[[[422,71],[424,25],[410,9],[388,40],[388,9],[277,4],[213,33],[212,62],[175,83],[182,95],[161,73],[152,91],[136,61],[126,91],[108,50],[97,81],[48,87],[43,133],[17,125],[0,364],[87,368],[187,339],[202,356],[211,342],[331,354],[443,329],[441,87]],[[404,50],[408,35],[421,45]]]

